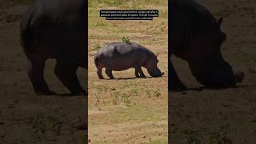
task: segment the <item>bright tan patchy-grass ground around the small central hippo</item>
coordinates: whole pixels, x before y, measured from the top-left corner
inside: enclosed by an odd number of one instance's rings
[[[105,9],[157,9],[153,21],[106,21]],[[167,143],[167,1],[89,1],[89,139],[90,143]],[[100,80],[94,53],[110,42],[130,38],[158,54],[162,78],[134,78],[134,69]],[[103,76],[105,78],[106,74]]]

